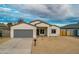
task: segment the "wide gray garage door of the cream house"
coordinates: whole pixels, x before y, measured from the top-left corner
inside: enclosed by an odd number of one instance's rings
[[[33,38],[33,30],[14,30],[15,38]]]

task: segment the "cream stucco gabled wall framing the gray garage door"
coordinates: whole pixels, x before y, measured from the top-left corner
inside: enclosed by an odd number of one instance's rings
[[[36,27],[22,23],[16,26],[12,26],[11,27],[11,31],[10,31],[10,37],[14,38],[14,30],[15,29],[33,29],[33,38],[36,38]]]

